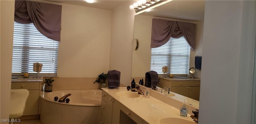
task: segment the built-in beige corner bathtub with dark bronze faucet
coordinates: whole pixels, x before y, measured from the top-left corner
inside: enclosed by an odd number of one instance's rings
[[[54,101],[70,93],[69,103]],[[99,124],[101,90],[63,90],[42,92],[40,121],[42,124]]]

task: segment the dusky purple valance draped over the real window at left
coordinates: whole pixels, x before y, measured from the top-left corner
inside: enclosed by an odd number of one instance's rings
[[[61,5],[27,0],[15,0],[14,21],[21,24],[33,23],[46,37],[60,41]]]

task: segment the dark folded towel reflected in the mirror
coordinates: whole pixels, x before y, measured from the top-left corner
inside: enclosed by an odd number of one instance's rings
[[[145,87],[153,87],[158,85],[158,74],[156,71],[148,71],[145,74]]]

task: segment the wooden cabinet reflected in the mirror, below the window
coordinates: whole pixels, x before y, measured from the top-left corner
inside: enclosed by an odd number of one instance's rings
[[[200,81],[196,80],[166,80],[161,78],[158,85],[161,88],[168,87],[174,93],[199,100],[200,97]]]

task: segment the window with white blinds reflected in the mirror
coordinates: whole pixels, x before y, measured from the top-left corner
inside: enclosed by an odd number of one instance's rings
[[[184,36],[170,40],[151,49],[150,70],[163,74],[162,67],[168,66],[171,74],[188,74],[190,46]]]

